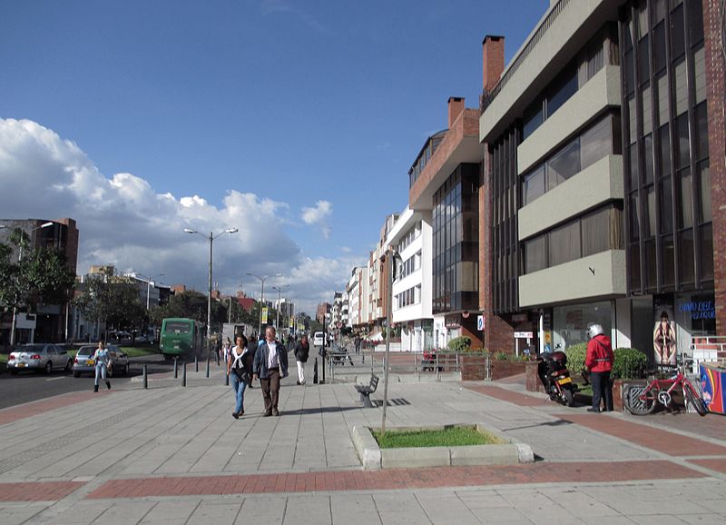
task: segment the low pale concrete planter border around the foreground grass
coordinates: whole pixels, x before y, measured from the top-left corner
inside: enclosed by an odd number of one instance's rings
[[[391,427],[388,428],[388,431],[438,431],[449,426],[476,427],[477,431],[486,431],[505,441],[505,443],[465,447],[417,447],[381,450],[370,428],[356,426],[353,427],[353,444],[358,452],[358,458],[363,463],[363,468],[367,471],[465,465],[512,465],[535,461],[535,453],[529,445],[513,440],[500,431],[490,429],[484,423],[430,427]]]

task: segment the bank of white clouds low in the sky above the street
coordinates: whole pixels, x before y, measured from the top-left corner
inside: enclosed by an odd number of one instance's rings
[[[72,217],[80,232],[78,271],[114,264],[120,271],[164,272],[163,282],[205,290],[209,245],[204,236],[237,227],[214,242],[214,282],[223,292],[259,294],[247,272],[274,275],[303,311],[330,301],[354,262],[311,259],[289,237],[289,204],[254,193],[228,191],[221,205],[200,195],[175,197],[132,173],[100,173],[71,141],[29,120],[0,119],[0,210],[3,218]],[[303,221],[329,234],[332,205],[303,209]]]

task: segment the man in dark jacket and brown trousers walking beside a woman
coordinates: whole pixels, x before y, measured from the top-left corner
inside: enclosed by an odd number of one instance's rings
[[[275,339],[273,326],[265,330],[265,341],[255,352],[253,379],[260,378],[262,399],[265,401],[264,416],[279,416],[280,379],[288,377],[288,352]]]

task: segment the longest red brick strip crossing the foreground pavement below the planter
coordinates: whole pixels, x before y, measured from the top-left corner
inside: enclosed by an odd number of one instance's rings
[[[202,476],[110,480],[87,498],[138,498],[211,494],[259,494],[264,492],[312,492],[338,490],[395,490],[437,487],[469,487],[514,483],[613,482],[701,478],[671,461],[568,462],[497,465],[489,467],[442,467],[386,471],[334,471],[245,476]]]

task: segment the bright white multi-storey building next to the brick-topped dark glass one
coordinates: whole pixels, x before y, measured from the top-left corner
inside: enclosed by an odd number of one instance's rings
[[[398,255],[392,320],[401,328],[400,348],[404,352],[423,352],[434,346],[431,223],[431,213],[415,213],[407,207],[386,241]]]

